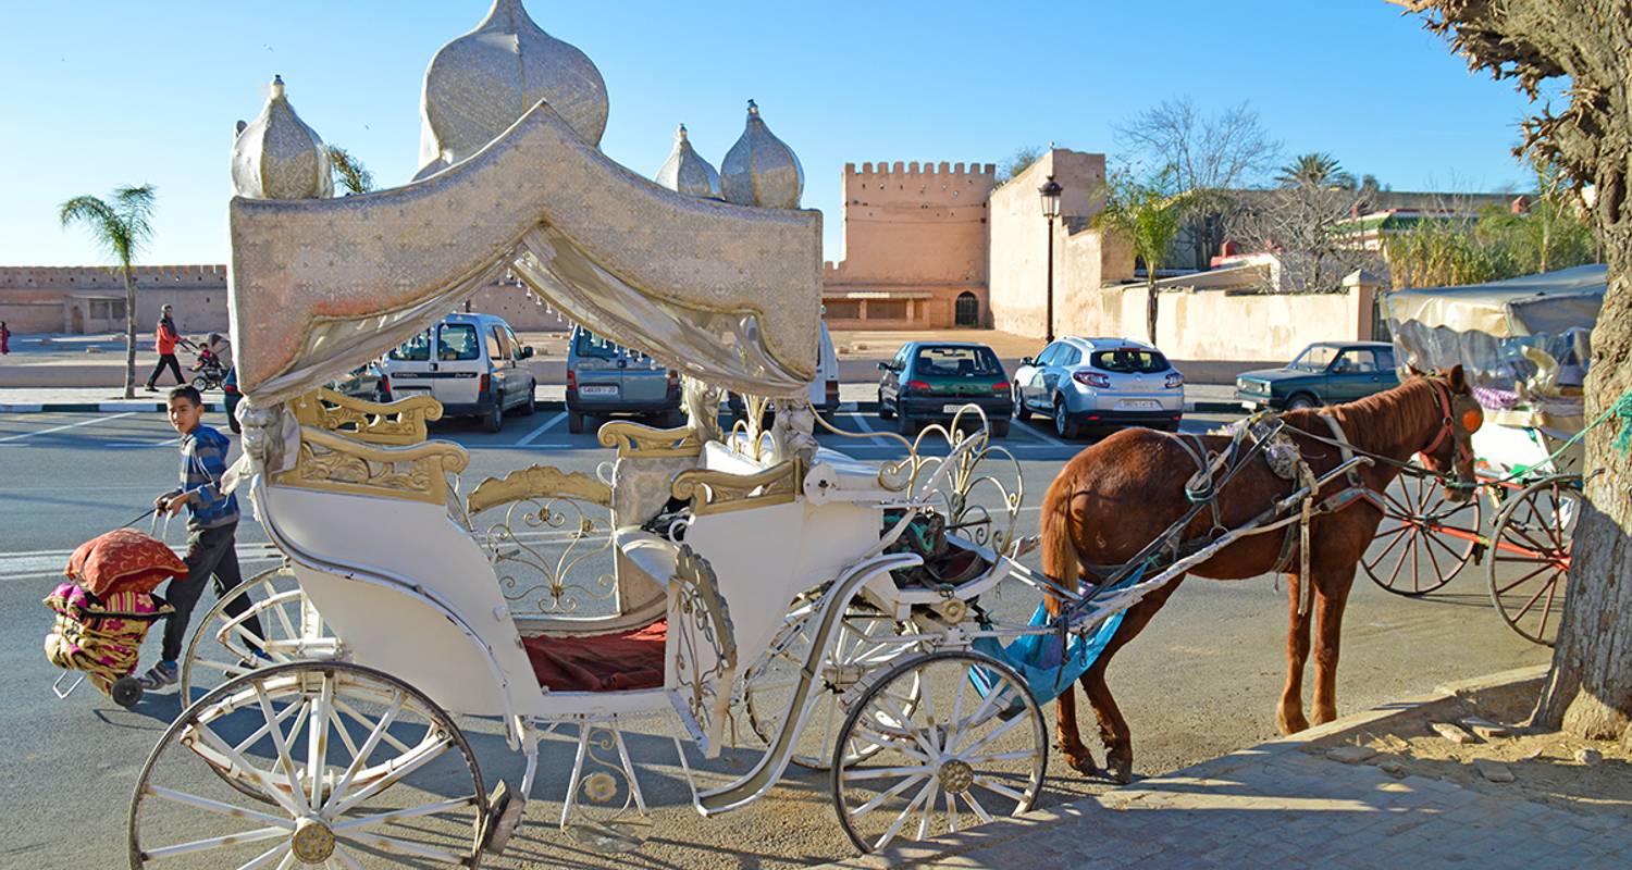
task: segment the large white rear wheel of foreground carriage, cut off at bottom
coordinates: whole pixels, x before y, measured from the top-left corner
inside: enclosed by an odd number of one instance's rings
[[[131,800],[131,867],[477,867],[483,793],[459,726],[406,682],[344,663],[271,666],[160,738]]]

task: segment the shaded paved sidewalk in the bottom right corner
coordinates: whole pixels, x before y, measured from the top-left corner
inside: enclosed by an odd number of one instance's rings
[[[1444,687],[1428,699],[1346,717],[1075,803],[829,867],[1629,867],[1632,826],[1612,810],[1563,810],[1516,792],[1395,779],[1379,767],[1327,756],[1343,733],[1386,730],[1386,718],[1410,715],[1474,682],[1539,679],[1544,671],[1526,668]],[[1312,746],[1320,738],[1328,739]]]

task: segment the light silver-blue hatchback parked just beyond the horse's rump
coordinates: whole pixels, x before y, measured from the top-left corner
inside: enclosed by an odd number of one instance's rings
[[[1064,336],[1022,361],[1013,398],[1017,418],[1049,415],[1061,437],[1116,426],[1173,433],[1185,416],[1185,375],[1144,341]]]

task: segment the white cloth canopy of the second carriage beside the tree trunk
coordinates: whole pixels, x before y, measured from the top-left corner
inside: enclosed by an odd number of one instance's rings
[[[1577,266],[1464,287],[1394,291],[1382,299],[1400,359],[1461,364],[1487,406],[1578,388],[1604,302],[1606,266]]]

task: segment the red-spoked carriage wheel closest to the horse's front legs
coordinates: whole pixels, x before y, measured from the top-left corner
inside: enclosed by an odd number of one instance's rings
[[[1485,547],[1477,496],[1456,503],[1439,482],[1400,475],[1382,504],[1382,522],[1359,566],[1397,596],[1425,596],[1451,583]]]

